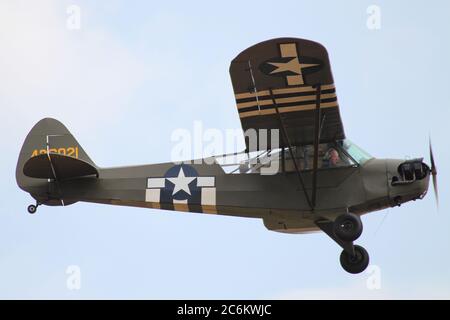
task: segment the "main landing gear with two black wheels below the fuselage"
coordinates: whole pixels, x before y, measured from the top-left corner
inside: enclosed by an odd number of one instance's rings
[[[349,273],[361,273],[369,265],[369,254],[353,241],[359,238],[363,225],[359,216],[345,213],[338,216],[335,221],[317,220],[316,225],[333,239],[344,250],[340,256],[342,268]]]

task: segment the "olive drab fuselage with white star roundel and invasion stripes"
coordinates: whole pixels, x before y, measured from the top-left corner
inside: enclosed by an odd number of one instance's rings
[[[317,229],[314,221],[318,217],[333,219],[344,212],[364,214],[423,197],[428,189],[428,172],[422,179],[392,184],[403,162],[372,158],[363,165],[319,169],[313,210],[295,172],[227,174],[217,163],[99,168],[98,178],[42,181],[32,189],[22,188],[48,205],[85,201],[262,218],[270,230],[307,232]],[[310,195],[312,171],[302,171],[302,177]]]

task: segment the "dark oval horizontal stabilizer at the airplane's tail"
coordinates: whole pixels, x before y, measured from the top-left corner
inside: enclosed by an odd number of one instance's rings
[[[97,168],[86,161],[57,153],[41,154],[28,159],[23,166],[23,173],[31,178],[55,180],[98,176]]]

